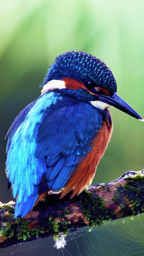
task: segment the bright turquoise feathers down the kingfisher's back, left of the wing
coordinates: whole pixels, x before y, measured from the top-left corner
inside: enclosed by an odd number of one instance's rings
[[[54,105],[56,100],[54,92],[42,95],[21,112],[10,128],[12,131],[7,144],[6,169],[13,188],[13,197],[18,195],[17,204],[25,196],[29,198],[38,193],[38,188],[35,192],[34,186],[41,182],[46,172],[45,158],[37,159],[34,153],[43,112]]]

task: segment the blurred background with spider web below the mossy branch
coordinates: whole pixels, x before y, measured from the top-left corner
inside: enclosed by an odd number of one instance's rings
[[[88,227],[69,232],[61,236],[62,249],[54,247],[53,237],[35,240],[0,249],[0,255],[35,255],[35,256],[131,256],[144,255],[144,215],[110,222],[101,227]],[[65,241],[64,241],[65,239]]]

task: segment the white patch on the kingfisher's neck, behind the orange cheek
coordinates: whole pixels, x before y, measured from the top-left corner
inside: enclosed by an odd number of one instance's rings
[[[52,89],[66,89],[65,82],[62,80],[51,80],[47,84],[44,85],[41,90],[41,95]]]

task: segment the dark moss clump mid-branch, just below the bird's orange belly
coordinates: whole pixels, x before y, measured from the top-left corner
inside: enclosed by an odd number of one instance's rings
[[[93,194],[85,189],[82,196],[78,196],[78,200],[85,217],[90,222],[89,231],[95,225],[102,226],[104,222],[111,221],[113,213],[106,209],[102,198],[94,198]]]

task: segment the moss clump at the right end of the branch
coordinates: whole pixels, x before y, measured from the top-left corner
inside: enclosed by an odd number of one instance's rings
[[[144,174],[142,172],[137,172],[137,174],[129,174],[125,179],[127,182],[124,186],[116,186],[117,194],[113,198],[116,204],[119,204],[121,208],[125,208],[125,203],[122,201],[122,195],[127,197],[127,202],[131,202],[132,216],[139,214],[140,211],[144,211]]]

